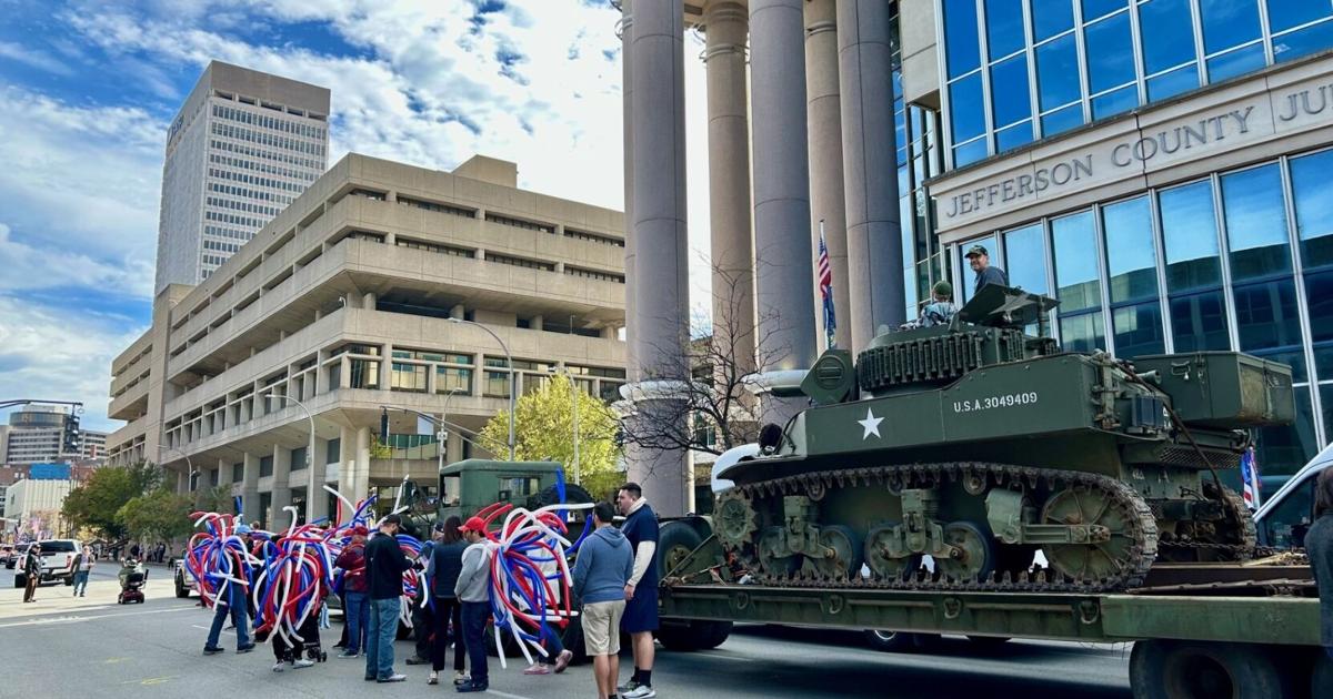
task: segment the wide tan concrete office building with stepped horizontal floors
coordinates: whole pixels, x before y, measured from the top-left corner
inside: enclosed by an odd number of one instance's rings
[[[404,475],[433,491],[439,458],[481,455],[467,438],[507,407],[511,373],[520,393],[568,371],[613,398],[623,216],[516,185],[487,157],[452,173],[339,161],[203,284],[159,294],[112,363],[109,414],[129,421],[112,462],[229,486],[247,519],[281,525],[312,481],[315,517],[324,485],[353,502]],[[445,415],[444,454],[400,409]]]

